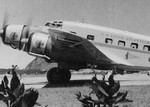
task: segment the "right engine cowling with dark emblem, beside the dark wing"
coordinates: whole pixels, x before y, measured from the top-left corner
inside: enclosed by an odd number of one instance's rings
[[[49,36],[49,34],[41,32],[31,34],[27,43],[27,52],[33,56],[48,58],[45,51]]]

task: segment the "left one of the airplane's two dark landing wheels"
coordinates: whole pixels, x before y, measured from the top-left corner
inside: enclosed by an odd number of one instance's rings
[[[47,80],[49,83],[60,83],[61,82],[61,74],[58,71],[58,68],[52,68],[47,72]]]

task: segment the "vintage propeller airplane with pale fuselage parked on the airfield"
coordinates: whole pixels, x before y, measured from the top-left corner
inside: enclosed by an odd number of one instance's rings
[[[50,83],[64,83],[70,70],[93,68],[150,70],[150,37],[91,24],[50,21],[45,26],[9,25],[4,21],[4,44],[29,55],[57,62],[47,72]]]

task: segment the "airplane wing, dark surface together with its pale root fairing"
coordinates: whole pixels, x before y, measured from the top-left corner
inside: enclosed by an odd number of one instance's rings
[[[58,50],[63,55],[62,57],[69,57],[67,59],[73,61],[85,61],[87,63],[103,63],[107,65],[117,65],[117,66],[133,66],[125,58],[122,58],[110,50],[102,46],[97,46],[91,41],[76,35],[68,31],[63,31],[61,29],[50,29],[49,33],[52,37],[53,44],[57,44]],[[65,55],[65,56],[64,56]],[[73,56],[73,57],[72,57]],[[74,59],[73,59],[74,58]],[[78,62],[76,61],[76,62]]]

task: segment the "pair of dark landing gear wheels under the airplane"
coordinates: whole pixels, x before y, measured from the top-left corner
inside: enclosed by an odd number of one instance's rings
[[[69,69],[54,67],[47,72],[47,80],[49,83],[60,84],[69,82],[71,72]]]

